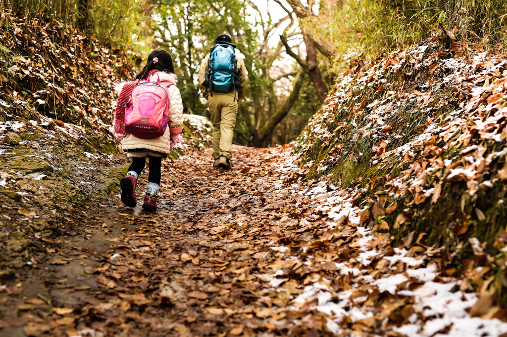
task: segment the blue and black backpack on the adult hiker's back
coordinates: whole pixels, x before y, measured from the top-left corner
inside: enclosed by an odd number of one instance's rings
[[[234,90],[236,101],[236,91],[239,91],[241,85],[236,53],[232,46],[215,45],[211,48],[204,85],[209,88],[211,97],[213,90],[220,93],[230,93]]]

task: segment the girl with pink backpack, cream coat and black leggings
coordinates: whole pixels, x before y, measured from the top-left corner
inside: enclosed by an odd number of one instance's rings
[[[127,175],[120,181],[121,199],[128,207],[135,207],[137,203],[135,195],[137,180],[148,157],[150,173],[142,208],[157,209],[162,158],[171,152],[182,132],[183,103],[176,82],[171,54],[165,50],[155,50],[148,57],[147,65],[135,76],[135,81],[120,83],[116,87],[119,98],[116,105],[114,135],[122,144],[123,151],[132,158]],[[167,92],[165,97],[164,91],[160,92],[161,88],[165,88]],[[161,115],[159,121],[161,120],[162,126],[159,130],[149,122],[164,109],[169,112],[168,125],[166,115]],[[135,116],[141,119],[132,120]],[[143,116],[146,118],[142,118]],[[156,137],[158,135],[160,136]]]

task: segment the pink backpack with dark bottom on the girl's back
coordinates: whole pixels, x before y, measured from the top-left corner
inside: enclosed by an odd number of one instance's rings
[[[125,132],[141,139],[164,135],[169,123],[170,95],[167,87],[173,82],[139,82],[125,104]]]

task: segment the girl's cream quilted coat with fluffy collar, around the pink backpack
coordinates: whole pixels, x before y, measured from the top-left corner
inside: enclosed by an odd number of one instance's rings
[[[174,74],[159,71],[157,72],[160,76],[160,81],[172,81],[174,84],[177,83],[177,78]],[[157,80],[157,75],[152,74],[150,80]],[[116,86],[116,92],[120,95],[122,88],[125,83],[120,83]],[[148,149],[157,152],[167,153],[171,152],[169,128],[179,128],[183,125],[183,102],[182,96],[179,94],[179,90],[176,86],[168,87],[170,94],[170,105],[169,105],[169,125],[165,130],[162,137],[155,139],[140,139],[131,134],[127,134],[122,140],[123,150],[133,149]],[[130,153],[129,153],[130,154]]]

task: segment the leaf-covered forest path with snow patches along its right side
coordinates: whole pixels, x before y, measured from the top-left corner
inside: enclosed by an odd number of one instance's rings
[[[99,201],[47,266],[1,288],[0,336],[507,332],[483,319],[504,311],[481,312],[440,269],[443,249],[421,237],[393,248],[359,225],[359,191],[306,182],[287,149],[237,148],[231,171],[167,161],[156,214]]]

